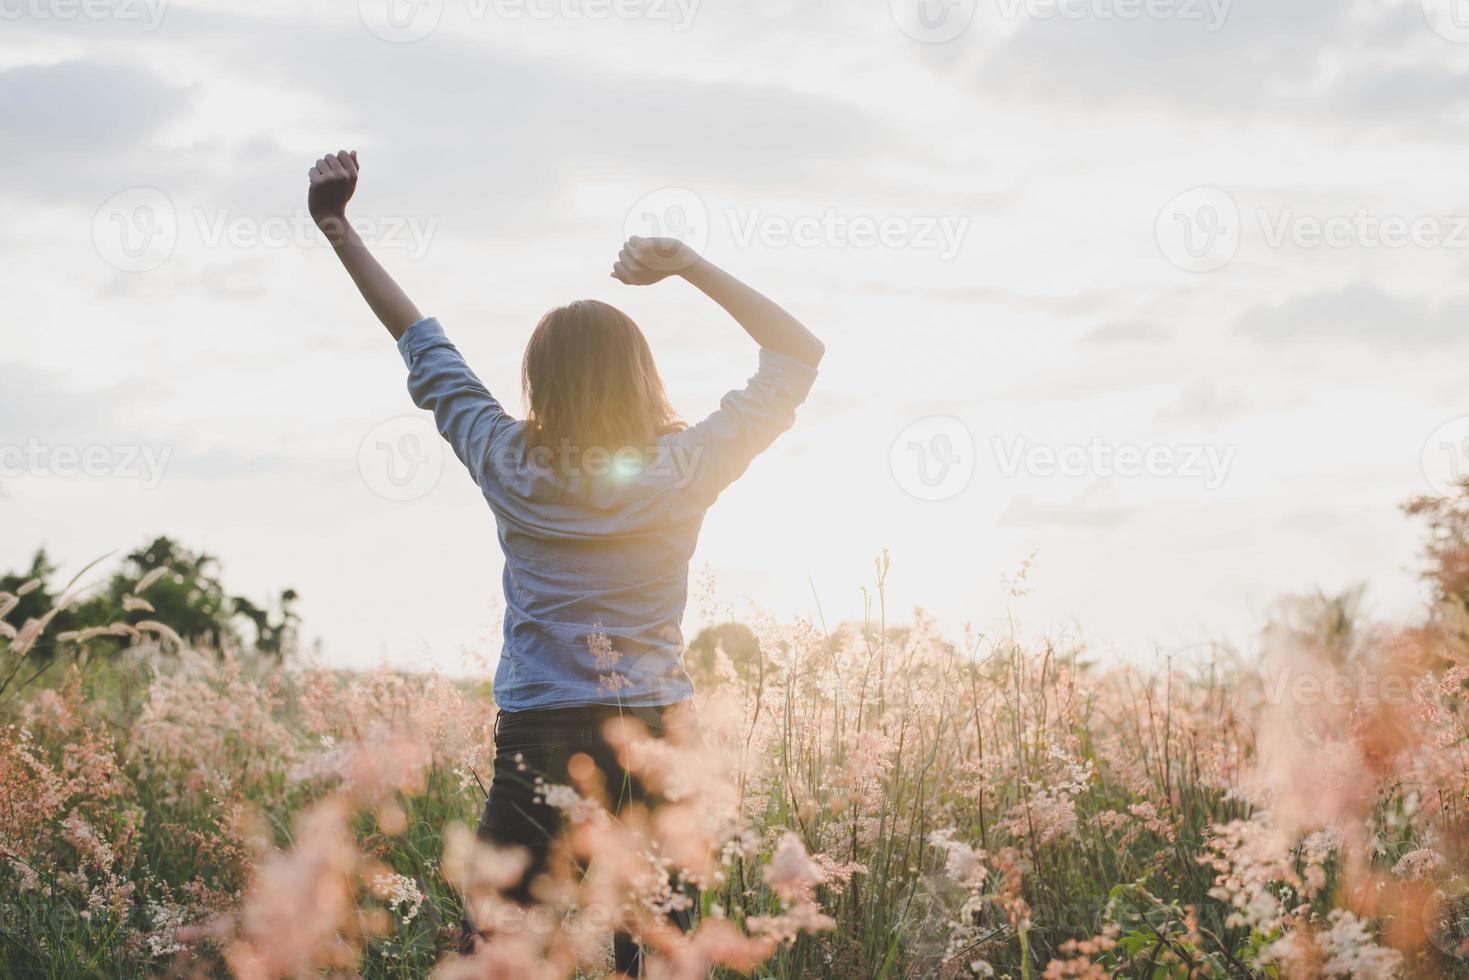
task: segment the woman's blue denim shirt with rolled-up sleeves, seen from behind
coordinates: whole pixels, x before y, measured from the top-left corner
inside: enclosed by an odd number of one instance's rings
[[[495,514],[505,552],[505,711],[651,707],[693,693],[683,669],[689,560],[704,513],[796,419],[817,372],[759,351],[759,369],[718,411],[642,453],[530,451],[436,319],[398,341],[408,392],[433,413]],[[564,461],[563,461],[564,463]]]

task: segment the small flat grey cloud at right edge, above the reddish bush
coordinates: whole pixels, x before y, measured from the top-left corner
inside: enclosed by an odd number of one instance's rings
[[[1294,297],[1246,311],[1235,332],[1265,344],[1363,344],[1379,350],[1426,348],[1469,339],[1469,298],[1443,303],[1391,295],[1372,285]]]

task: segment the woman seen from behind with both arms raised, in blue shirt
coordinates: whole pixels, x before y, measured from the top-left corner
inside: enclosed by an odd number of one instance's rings
[[[527,411],[513,419],[347,223],[357,173],[355,153],[317,160],[311,216],[398,342],[414,404],[433,413],[469,467],[505,552],[495,777],[479,835],[530,851],[514,893],[529,901],[558,814],[533,795],[527,771],[564,783],[569,758],[585,754],[602,770],[610,805],[639,801],[643,790],[618,767],[602,726],[633,716],[658,735],[686,714],[693,689],[680,623],[704,513],[795,422],[826,348],[682,242],[632,238],[613,278],[646,287],[682,276],[759,345],[755,376],[712,416],[683,426],[632,319],[582,300],[546,313],[532,334]],[[636,946],[621,936],[617,967],[639,970]]]

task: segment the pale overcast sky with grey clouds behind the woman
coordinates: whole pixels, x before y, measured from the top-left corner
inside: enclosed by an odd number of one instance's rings
[[[887,547],[892,617],[1014,607],[1111,657],[1360,580],[1403,617],[1397,504],[1469,473],[1469,1],[0,18],[0,567],[167,533],[237,591],[301,591],[329,663],[495,654],[491,516],[303,212],[338,148],[364,235],[507,404],[577,297],[643,326],[690,420],[752,373],[689,287],[607,278],[629,232],[687,237],[826,339],[798,428],[705,526],[740,613],[859,614]]]

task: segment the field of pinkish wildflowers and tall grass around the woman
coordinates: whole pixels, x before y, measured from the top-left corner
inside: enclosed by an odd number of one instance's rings
[[[544,786],[571,830],[533,908],[499,892],[520,855],[469,830],[483,686],[191,649],[150,620],[53,633],[0,594],[0,959],[593,977],[616,924],[657,977],[1454,976],[1469,491],[1407,511],[1421,621],[1294,599],[1256,651],[1152,670],[896,627],[883,560],[871,621],[757,621],[758,652],[692,658],[696,748],[623,730],[665,805],[608,814],[576,767]],[[685,902],[689,936],[660,915]],[[473,956],[466,908],[492,934]]]

